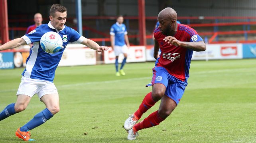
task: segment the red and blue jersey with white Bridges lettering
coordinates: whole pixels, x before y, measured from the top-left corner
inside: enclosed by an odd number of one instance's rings
[[[156,60],[155,66],[161,66],[177,79],[187,81],[193,50],[168,44],[163,41],[166,36],[160,32],[159,28],[155,29],[154,37],[158,41],[161,50],[160,57]],[[197,31],[183,24],[178,24],[177,32],[173,37],[184,42],[203,41],[197,34]]]

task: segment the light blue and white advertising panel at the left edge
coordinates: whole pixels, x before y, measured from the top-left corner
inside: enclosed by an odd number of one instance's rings
[[[13,64],[13,52],[0,52],[0,69],[12,69]]]

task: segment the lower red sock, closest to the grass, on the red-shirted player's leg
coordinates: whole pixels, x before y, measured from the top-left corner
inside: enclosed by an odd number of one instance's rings
[[[143,121],[139,122],[138,124],[134,125],[133,129],[134,131],[139,131],[141,129],[150,128],[153,126],[159,125],[164,119],[162,119],[159,114],[158,110],[151,113],[147,118],[145,118]]]

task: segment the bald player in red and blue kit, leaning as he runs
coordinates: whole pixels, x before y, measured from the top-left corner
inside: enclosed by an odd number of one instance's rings
[[[153,70],[152,92],[148,93],[125,122],[128,140],[136,139],[138,131],[159,125],[175,109],[187,86],[193,51],[205,51],[206,46],[197,32],[187,25],[177,24],[177,13],[165,8],[158,14],[160,25],[154,31],[156,64]],[[158,56],[158,50],[161,50]],[[143,113],[161,99],[160,107],[139,122]]]

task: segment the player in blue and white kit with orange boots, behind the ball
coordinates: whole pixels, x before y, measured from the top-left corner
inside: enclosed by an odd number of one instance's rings
[[[92,40],[79,35],[74,29],[65,26],[67,9],[59,4],[53,4],[50,9],[50,21],[43,24],[21,38],[14,39],[0,46],[0,50],[16,48],[23,44],[33,43],[32,53],[28,56],[27,66],[22,73],[21,83],[17,92],[16,103],[11,103],[2,112],[0,120],[26,109],[30,99],[37,94],[46,108],[36,114],[32,120],[16,131],[16,136],[24,141],[34,141],[30,138],[29,130],[40,126],[59,112],[59,95],[53,84],[55,70],[61,56],[69,42],[81,43],[98,52],[108,50],[106,46],[99,46]],[[49,54],[41,48],[39,41],[44,33],[53,31],[63,39],[63,46],[59,52]]]

